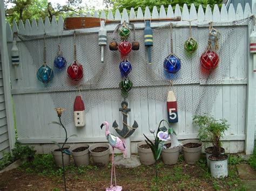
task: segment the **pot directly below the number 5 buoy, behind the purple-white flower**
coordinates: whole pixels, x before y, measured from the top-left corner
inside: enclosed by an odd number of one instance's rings
[[[171,143],[171,140],[167,140],[165,142],[166,144]],[[166,165],[174,165],[178,162],[179,159],[179,150],[180,146],[174,147],[174,148],[166,148],[162,150],[162,159],[164,164]]]

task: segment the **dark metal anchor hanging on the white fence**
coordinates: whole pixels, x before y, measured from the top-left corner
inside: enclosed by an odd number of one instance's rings
[[[128,102],[122,101],[121,103],[122,108],[119,108],[119,111],[122,111],[123,114],[123,129],[118,129],[118,124],[116,121],[113,123],[113,128],[117,131],[118,135],[122,136],[123,138],[127,138],[132,135],[132,133],[138,128],[138,123],[134,121],[132,126],[127,124],[127,112],[131,111],[131,108],[128,108]]]

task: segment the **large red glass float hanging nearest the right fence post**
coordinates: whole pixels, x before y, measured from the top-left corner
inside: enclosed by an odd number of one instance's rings
[[[215,69],[219,63],[219,56],[217,53],[207,50],[201,55],[200,63],[207,70]]]

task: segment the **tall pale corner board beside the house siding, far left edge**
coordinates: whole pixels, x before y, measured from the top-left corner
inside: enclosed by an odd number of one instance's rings
[[[2,56],[2,71],[3,71],[3,85],[4,85],[4,100],[5,111],[7,119],[7,128],[9,136],[10,148],[14,148],[15,144],[15,130],[14,130],[14,115],[12,112],[12,98],[11,98],[11,83],[10,83],[10,68],[6,40],[6,21],[4,1],[0,2],[0,39],[1,39],[1,56]]]

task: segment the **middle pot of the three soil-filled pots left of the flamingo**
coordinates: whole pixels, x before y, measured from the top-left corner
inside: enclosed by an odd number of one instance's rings
[[[89,160],[89,145],[85,143],[75,144],[70,148],[71,155],[74,159],[75,165],[87,166],[90,163]]]

